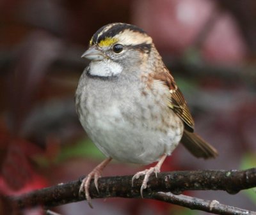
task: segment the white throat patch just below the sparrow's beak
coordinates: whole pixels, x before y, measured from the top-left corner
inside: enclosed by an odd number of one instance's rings
[[[110,60],[91,61],[89,73],[99,77],[109,77],[120,74],[122,70],[122,66]]]

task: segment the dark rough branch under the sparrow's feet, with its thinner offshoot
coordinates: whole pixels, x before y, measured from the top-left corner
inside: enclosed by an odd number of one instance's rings
[[[132,175],[122,177],[102,177],[99,179],[99,193],[93,181],[90,184],[90,195],[92,198],[140,198],[140,186],[142,179],[134,182],[131,187]],[[79,196],[79,186],[81,181],[72,181],[66,184],[58,184],[49,188],[40,189],[20,196],[9,196],[13,209],[19,210],[25,207],[43,205],[45,208],[57,205],[68,204],[84,200],[84,196]],[[184,198],[184,195],[177,194],[186,190],[223,190],[230,194],[238,193],[242,189],[256,186],[256,168],[248,170],[197,170],[197,171],[177,171],[163,172],[150,177],[148,188],[145,189],[145,198],[164,200],[172,204],[182,205],[191,209],[199,209],[216,214],[236,214],[234,207],[227,205],[211,204],[210,201],[196,198]],[[163,194],[159,192],[172,192]],[[195,204],[195,202],[197,204]],[[218,207],[217,207],[218,206]],[[226,210],[226,213],[223,211]],[[240,211],[244,211],[239,209]],[[233,211],[233,212],[232,212]],[[255,212],[246,211],[246,214]]]

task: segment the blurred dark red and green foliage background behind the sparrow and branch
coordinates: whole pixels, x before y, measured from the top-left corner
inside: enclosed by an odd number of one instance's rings
[[[2,0],[0,193],[19,195],[78,179],[104,159],[74,106],[81,54],[101,26],[128,22],[152,36],[188,101],[196,132],[220,152],[196,159],[179,145],[163,171],[256,166],[256,1]],[[111,164],[107,175],[145,167]],[[255,210],[255,190],[188,195]],[[151,200],[112,198],[56,207],[61,214],[206,214]],[[6,214],[0,204],[0,214]],[[24,214],[44,214],[42,209]]]

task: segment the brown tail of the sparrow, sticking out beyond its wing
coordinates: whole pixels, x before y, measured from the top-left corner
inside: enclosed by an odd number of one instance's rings
[[[197,158],[216,158],[218,156],[218,151],[208,144],[201,137],[196,135],[196,133],[190,133],[189,131],[184,131],[181,138],[181,142]]]

